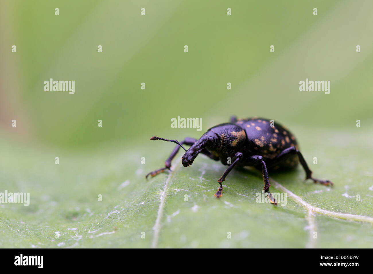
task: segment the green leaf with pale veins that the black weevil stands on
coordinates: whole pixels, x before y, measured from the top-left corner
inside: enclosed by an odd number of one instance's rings
[[[142,153],[106,148],[84,156],[60,154],[58,165],[50,152],[2,146],[1,189],[30,192],[31,202],[0,204],[1,247],[371,247],[372,131],[301,125],[292,130],[309,140],[301,144],[314,176],[334,186],[304,182],[300,166],[270,174],[272,193],[285,189],[288,195],[286,205],[277,207],[256,202],[263,179],[253,169],[231,171],[223,197],[214,197],[226,167],[204,155],[187,168],[178,155],[172,173],[145,180],[172,150],[174,144],[166,142],[146,141]]]

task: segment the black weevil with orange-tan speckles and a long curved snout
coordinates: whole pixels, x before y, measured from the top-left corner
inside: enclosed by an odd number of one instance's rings
[[[272,204],[277,204],[273,195],[269,192],[270,182],[268,170],[294,169],[300,162],[305,173],[305,180],[311,179],[314,183],[322,185],[333,185],[329,180],[319,180],[313,178],[312,171],[308,168],[303,155],[299,151],[298,142],[295,136],[284,126],[274,120],[251,117],[247,119],[237,119],[231,117],[229,123],[223,123],[211,127],[200,139],[186,137],[181,143],[176,140],[169,140],[154,136],[150,140],[163,140],[178,144],[170,156],[165,161],[165,167],[148,173],[157,174],[171,170],[171,161],[183,145],[189,145],[181,158],[184,167],[190,166],[198,154],[207,155],[215,161],[221,161],[228,166],[223,175],[217,180],[220,184],[216,197],[223,195],[222,182],[235,166],[253,166],[262,170],[264,180],[264,193],[267,194]]]

